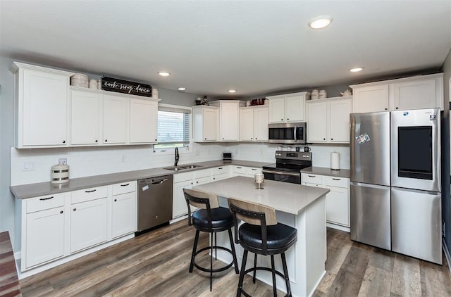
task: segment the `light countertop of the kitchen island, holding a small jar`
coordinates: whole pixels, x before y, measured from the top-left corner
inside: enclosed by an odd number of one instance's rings
[[[292,215],[299,215],[311,203],[330,191],[319,187],[307,187],[302,184],[267,179],[262,186],[264,189],[255,187],[256,184],[252,177],[231,177],[192,187],[192,189],[212,192],[221,197],[260,203]]]

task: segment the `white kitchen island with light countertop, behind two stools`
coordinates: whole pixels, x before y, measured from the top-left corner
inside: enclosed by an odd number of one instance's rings
[[[231,177],[192,189],[218,195],[220,205],[224,207],[227,207],[226,198],[235,198],[275,208],[278,222],[297,229],[297,242],[285,253],[292,296],[311,296],[326,273],[326,194],[329,189],[271,180],[266,180],[263,187],[264,189],[256,189],[251,177]],[[230,246],[228,236],[218,233],[218,244]],[[237,258],[242,259],[243,249],[238,245],[235,248]],[[231,260],[230,255],[220,251],[218,258],[227,263]],[[270,267],[268,256],[259,256],[258,259],[257,265]],[[251,256],[247,267],[252,265]],[[282,270],[279,257],[276,257],[276,269]],[[269,272],[259,271],[257,278],[272,285]],[[281,291],[286,289],[283,279],[279,277],[277,288]]]

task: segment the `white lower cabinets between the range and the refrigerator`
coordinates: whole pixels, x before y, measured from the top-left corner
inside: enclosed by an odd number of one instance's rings
[[[302,173],[302,184],[330,189],[326,195],[327,222],[350,227],[350,179]]]

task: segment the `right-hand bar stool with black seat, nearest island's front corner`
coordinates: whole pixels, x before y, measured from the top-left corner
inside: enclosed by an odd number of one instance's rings
[[[287,294],[285,296],[292,296],[285,251],[297,241],[297,229],[278,223],[274,208],[257,203],[238,201],[232,198],[228,199],[228,204],[235,224],[235,242],[245,248],[242,257],[237,297],[241,296],[241,293],[250,297],[242,288],[242,282],[245,274],[254,272],[252,280],[255,284],[257,270],[266,270],[273,274],[274,296],[277,296],[276,274],[285,279],[287,286]],[[245,222],[239,229],[238,220]],[[255,255],[254,267],[246,270],[247,253],[249,251]],[[283,274],[274,268],[274,255],[279,253],[282,258]],[[271,255],[271,268],[257,267],[257,254]]]

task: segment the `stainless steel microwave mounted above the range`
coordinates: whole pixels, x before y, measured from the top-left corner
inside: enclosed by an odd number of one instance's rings
[[[271,144],[305,144],[307,122],[268,124],[268,142]]]

